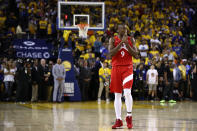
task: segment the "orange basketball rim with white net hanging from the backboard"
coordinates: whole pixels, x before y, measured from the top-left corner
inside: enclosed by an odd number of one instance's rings
[[[77,27],[79,29],[79,38],[87,39],[89,24],[78,24]]]

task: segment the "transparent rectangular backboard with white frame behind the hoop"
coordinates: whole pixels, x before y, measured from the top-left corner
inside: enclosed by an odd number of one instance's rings
[[[58,29],[78,29],[78,24],[89,24],[89,30],[105,28],[105,3],[58,1]]]

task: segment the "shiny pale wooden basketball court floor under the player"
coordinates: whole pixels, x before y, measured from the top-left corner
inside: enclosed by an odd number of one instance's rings
[[[196,131],[197,103],[135,101],[133,131]],[[126,109],[123,106],[122,118]],[[0,131],[111,131],[113,102],[0,103]],[[124,121],[120,131],[127,131]]]

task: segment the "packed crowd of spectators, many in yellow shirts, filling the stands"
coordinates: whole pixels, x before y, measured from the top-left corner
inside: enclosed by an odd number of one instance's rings
[[[106,29],[89,32],[85,41],[77,38],[76,31],[57,30],[57,0],[1,0],[0,3],[2,100],[51,101],[50,76],[55,60],[47,60],[47,64],[37,59],[21,61],[12,45],[15,38],[47,39],[55,47],[56,58],[61,45],[72,48],[82,100],[102,99],[102,91],[98,95],[102,85],[100,68],[104,68],[104,63],[111,68],[108,41],[117,35],[121,23],[127,25],[128,35],[135,38],[140,51],[140,58],[133,58],[134,99],[162,102],[197,99],[197,13],[192,0],[106,0]],[[155,93],[147,92],[147,71],[151,65],[158,72]],[[38,76],[32,74],[34,68],[36,71],[38,68]],[[103,86],[108,88],[108,85]],[[38,99],[32,98],[32,88],[38,88],[38,96],[34,96]],[[110,94],[109,98],[113,96]]]

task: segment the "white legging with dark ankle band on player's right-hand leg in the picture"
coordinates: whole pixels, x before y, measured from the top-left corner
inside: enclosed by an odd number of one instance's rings
[[[127,116],[132,116],[133,98],[131,96],[131,89],[124,89],[124,96],[127,108]]]

